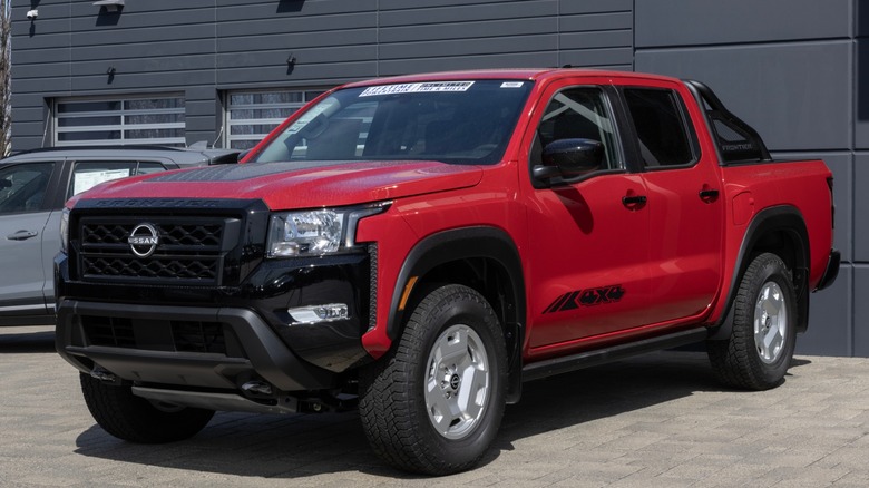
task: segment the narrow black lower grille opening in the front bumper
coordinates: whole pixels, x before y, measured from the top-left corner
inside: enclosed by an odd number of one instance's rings
[[[81,324],[90,345],[226,354],[219,322],[82,315]]]

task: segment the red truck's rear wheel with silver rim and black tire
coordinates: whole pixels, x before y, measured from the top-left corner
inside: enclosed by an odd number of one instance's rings
[[[779,256],[764,253],[751,262],[731,313],[730,338],[707,343],[715,375],[725,384],[749,390],[781,384],[797,342],[797,293]]]

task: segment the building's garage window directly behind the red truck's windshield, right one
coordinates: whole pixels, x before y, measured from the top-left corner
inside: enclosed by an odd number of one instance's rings
[[[226,96],[226,147],[250,149],[272,129],[316,98],[323,89],[230,91]]]

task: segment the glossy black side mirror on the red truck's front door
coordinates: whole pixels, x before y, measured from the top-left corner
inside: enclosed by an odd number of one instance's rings
[[[533,169],[536,179],[546,180],[560,176],[573,178],[601,167],[604,145],[592,139],[558,139],[546,145],[543,165]]]

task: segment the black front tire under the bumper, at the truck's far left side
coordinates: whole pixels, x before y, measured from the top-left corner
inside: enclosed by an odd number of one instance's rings
[[[165,406],[133,394],[130,387],[111,385],[81,373],[81,392],[90,414],[106,432],[130,442],[163,443],[199,432],[214,410]]]

